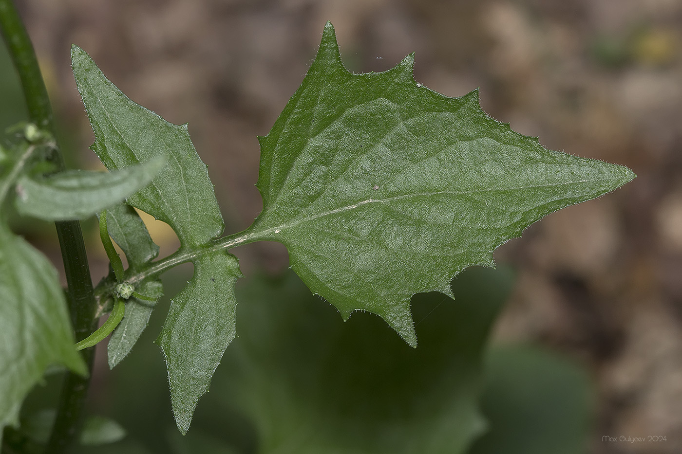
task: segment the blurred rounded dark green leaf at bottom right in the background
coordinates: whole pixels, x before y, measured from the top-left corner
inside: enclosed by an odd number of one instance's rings
[[[593,419],[589,377],[530,347],[496,347],[486,358],[481,407],[489,432],[469,454],[583,454]]]

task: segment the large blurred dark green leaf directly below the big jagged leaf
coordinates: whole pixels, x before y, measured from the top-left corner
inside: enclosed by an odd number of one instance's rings
[[[376,316],[339,322],[298,279],[250,282],[211,397],[252,418],[260,454],[462,453],[484,431],[481,361],[512,281],[473,268],[454,301],[415,295],[416,350]]]

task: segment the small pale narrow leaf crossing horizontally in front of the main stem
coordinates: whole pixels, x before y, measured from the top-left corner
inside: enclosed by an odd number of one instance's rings
[[[163,157],[156,157],[113,172],[68,170],[46,178],[22,177],[16,184],[16,209],[47,221],[85,219],[145,187],[164,164]]]

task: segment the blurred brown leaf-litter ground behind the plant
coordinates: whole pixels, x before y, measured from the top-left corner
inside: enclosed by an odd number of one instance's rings
[[[256,135],[298,87],[326,20],[354,72],[387,70],[415,51],[424,85],[449,96],[480,87],[486,112],[549,149],[632,168],[638,178],[621,190],[554,213],[499,249],[496,260],[519,279],[495,335],[539,340],[591,370],[593,453],[682,452],[681,0],[16,3],[74,162],[97,165],[71,43],[132,100],[189,123],[228,232],[261,209]],[[162,254],[172,252],[173,233],[154,229]],[[91,241],[95,282],[98,247]],[[236,253],[245,273],[287,263],[278,245]]]

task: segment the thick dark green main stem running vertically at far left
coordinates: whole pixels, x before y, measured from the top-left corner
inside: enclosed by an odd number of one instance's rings
[[[38,67],[38,59],[35,58],[33,44],[11,0],[0,0],[0,29],[21,80],[29,119],[56,137],[50,98]],[[59,149],[55,149],[50,160],[53,160],[60,170],[65,168]],[[83,232],[77,221],[56,222],[55,226],[68,284],[70,312],[78,341],[87,337],[96,328],[94,318],[96,305],[85,255]],[[92,370],[93,353],[92,348],[81,352],[89,371]],[[83,377],[68,372],[57,408],[57,422],[48,442],[48,452],[64,452],[76,437],[90,375]]]

